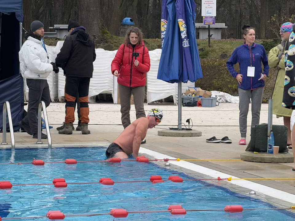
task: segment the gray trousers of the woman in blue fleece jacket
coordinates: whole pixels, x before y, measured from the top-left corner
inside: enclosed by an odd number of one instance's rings
[[[239,88],[239,109],[240,109],[240,133],[241,137],[246,137],[247,133],[247,115],[249,111],[250,98],[252,101],[251,112],[252,112],[252,121],[251,127],[259,124],[260,120],[260,110],[262,103],[262,95],[264,88],[257,88],[254,90],[243,90]]]

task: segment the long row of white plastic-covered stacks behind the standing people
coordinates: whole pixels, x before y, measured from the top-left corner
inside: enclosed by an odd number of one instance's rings
[[[58,41],[56,46],[46,46],[49,53],[49,59],[55,61],[57,54],[60,52],[64,41]],[[156,100],[173,96],[174,103],[177,104],[177,83],[167,83],[157,79],[161,49],[149,51],[151,59],[151,68],[147,73],[147,100],[151,103]],[[94,103],[96,95],[100,93],[112,93],[114,98],[114,80],[117,80],[111,73],[111,63],[116,55],[116,51],[105,51],[102,48],[95,49],[96,60],[93,62],[93,77],[89,85],[89,102]],[[65,102],[65,76],[60,68],[59,73],[50,74],[47,78],[50,97],[52,102]],[[194,82],[182,83],[182,93],[185,93],[187,87],[194,87]],[[116,90],[115,90],[116,91]],[[26,99],[28,98],[28,88],[26,87]],[[28,100],[28,99],[27,99]]]

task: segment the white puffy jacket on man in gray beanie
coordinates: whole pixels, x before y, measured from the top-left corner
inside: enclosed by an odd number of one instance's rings
[[[41,41],[36,38],[29,36],[18,52],[18,56],[23,78],[46,79],[53,71]]]

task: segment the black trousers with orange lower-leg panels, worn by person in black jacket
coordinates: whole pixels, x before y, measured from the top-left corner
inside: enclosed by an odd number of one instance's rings
[[[66,114],[65,123],[75,121],[75,106],[77,96],[80,103],[80,120],[81,123],[89,123],[88,91],[90,78],[87,77],[66,77],[65,80],[65,99]],[[77,95],[78,94],[78,95]]]

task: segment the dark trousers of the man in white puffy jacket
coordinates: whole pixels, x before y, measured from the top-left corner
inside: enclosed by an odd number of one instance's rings
[[[23,122],[30,125],[31,132],[38,132],[38,106],[40,101],[44,101],[45,106],[50,104],[50,92],[47,80],[45,79],[26,79],[29,87],[28,114],[23,118]]]

